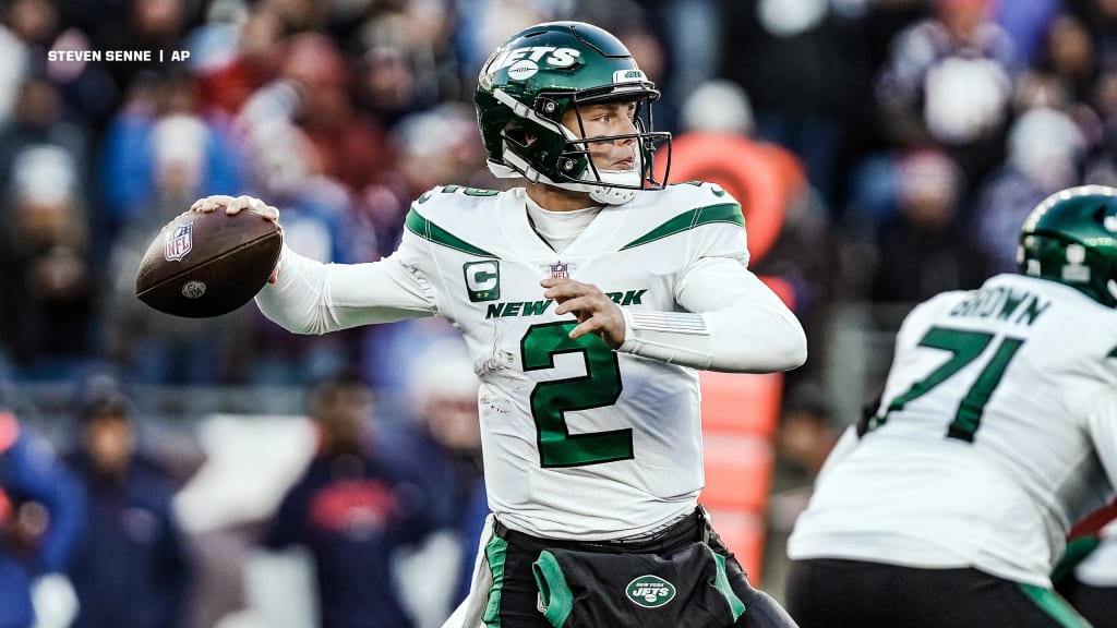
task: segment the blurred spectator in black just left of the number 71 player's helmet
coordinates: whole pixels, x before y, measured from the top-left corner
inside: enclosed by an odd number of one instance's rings
[[[957,164],[942,151],[918,151],[899,158],[896,175],[899,210],[877,235],[872,302],[910,306],[942,291],[980,286],[989,264],[957,220],[964,198]]]

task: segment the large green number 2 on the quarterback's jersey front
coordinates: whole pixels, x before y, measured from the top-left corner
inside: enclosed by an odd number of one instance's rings
[[[544,467],[576,467],[632,457],[631,429],[570,434],[565,412],[612,406],[621,396],[617,354],[598,336],[571,339],[570,332],[576,325],[533,325],[519,342],[524,371],[553,369],[554,356],[560,353],[581,353],[585,360],[584,375],[540,382],[532,390],[532,418]]]

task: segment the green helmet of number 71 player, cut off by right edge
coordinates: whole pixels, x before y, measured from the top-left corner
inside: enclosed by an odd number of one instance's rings
[[[1056,192],[1024,220],[1020,273],[1059,282],[1117,306],[1117,188],[1080,185]]]

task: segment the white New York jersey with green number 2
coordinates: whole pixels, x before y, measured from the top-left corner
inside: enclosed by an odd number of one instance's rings
[[[596,285],[622,308],[675,312],[701,258],[747,264],[736,200],[709,184],[605,207],[561,255],[533,230],[525,192],[436,188],[407,217],[394,258],[476,360],[489,503],[509,527],[553,539],[637,534],[690,512],[703,486],[698,375],[569,337],[540,282]]]

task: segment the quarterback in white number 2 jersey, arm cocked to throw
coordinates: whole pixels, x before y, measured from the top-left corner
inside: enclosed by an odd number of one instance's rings
[[[737,201],[655,178],[658,96],[609,32],[527,28],[475,95],[489,169],[524,187],[435,188],[392,256],[285,249],[257,296],[298,333],[435,315],[464,333],[494,516],[447,626],[793,626],[697,504],[696,369],[794,369],[805,337],[748,270]],[[194,204],[278,218],[249,197]]]

